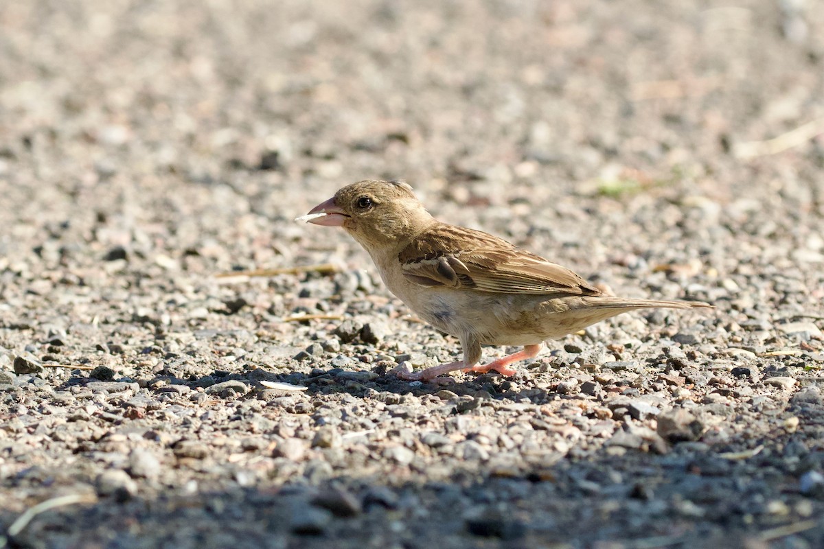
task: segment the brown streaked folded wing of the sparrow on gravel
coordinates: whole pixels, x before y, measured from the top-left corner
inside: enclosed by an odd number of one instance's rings
[[[597,295],[568,268],[480,230],[442,224],[398,255],[404,276],[421,286],[518,294]]]

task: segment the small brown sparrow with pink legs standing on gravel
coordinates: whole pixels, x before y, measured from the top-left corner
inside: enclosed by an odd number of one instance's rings
[[[462,361],[416,373],[396,368],[401,379],[428,381],[454,370],[513,375],[509,365],[536,356],[545,340],[616,314],[651,307],[712,307],[605,295],[569,269],[506,240],[436,220],[402,182],[350,184],[296,221],[343,227],[372,257],[393,294],[461,341]],[[523,349],[478,365],[481,345]]]

